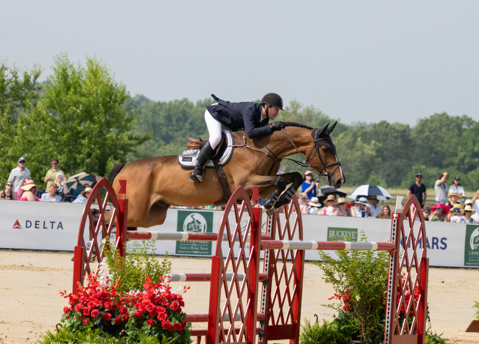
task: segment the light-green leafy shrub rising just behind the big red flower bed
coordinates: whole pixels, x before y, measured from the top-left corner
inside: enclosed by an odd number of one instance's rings
[[[110,280],[120,280],[118,292],[141,290],[146,275],[156,283],[160,277],[171,273],[168,252],[163,261],[156,259],[154,241],[134,241],[131,247],[125,245],[125,250],[126,257],[122,257],[117,250],[104,250],[104,262],[109,268]]]

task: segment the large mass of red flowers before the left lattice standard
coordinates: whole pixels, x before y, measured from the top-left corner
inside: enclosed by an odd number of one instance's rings
[[[61,296],[68,298],[70,307],[63,309],[62,323],[72,332],[85,331],[87,328],[99,328],[110,335],[120,337],[128,334],[132,340],[138,340],[139,334],[151,334],[180,342],[190,342],[187,314],[183,297],[190,287],[183,286],[181,294],[173,293],[169,282],[151,283],[146,278],[143,290],[137,293],[121,294],[117,292],[121,281],[115,285],[101,285],[98,274],[88,276],[87,286],[79,286],[78,295],[66,291]]]

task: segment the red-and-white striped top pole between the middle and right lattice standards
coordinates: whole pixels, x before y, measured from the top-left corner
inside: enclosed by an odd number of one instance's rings
[[[395,248],[396,245],[394,243],[287,240],[261,241],[261,249],[275,250],[392,251]]]

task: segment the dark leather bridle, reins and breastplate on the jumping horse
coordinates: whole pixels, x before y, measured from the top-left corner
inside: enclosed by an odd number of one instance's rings
[[[248,145],[246,143],[246,130],[243,131],[243,145],[231,145],[229,147],[243,147],[243,148],[250,148],[250,149],[253,149],[257,152],[260,152],[266,156],[268,156],[271,160],[273,160],[274,164],[273,164],[273,167],[277,164],[277,163],[280,163],[283,159],[284,160],[290,160],[292,162],[295,162],[296,164],[298,164],[299,166],[302,166],[302,167],[307,167],[309,170],[311,171],[314,171],[314,173],[316,173],[318,176],[320,176],[321,178],[323,178],[324,180],[330,180],[331,177],[334,175],[334,173],[336,173],[336,170],[341,166],[341,163],[339,161],[336,161],[334,163],[331,163],[331,164],[325,164],[323,158],[321,157],[321,154],[320,154],[320,147],[322,146],[320,144],[321,141],[324,141],[324,140],[329,140],[331,141],[331,138],[330,137],[320,137],[319,135],[317,135],[317,130],[319,129],[312,129],[311,131],[311,134],[314,132],[315,133],[315,137],[314,137],[314,144],[313,144],[313,147],[311,148],[311,151],[309,152],[309,155],[308,157],[306,158],[306,156],[303,155],[303,153],[301,153],[298,149],[298,147],[296,147],[295,143],[291,140],[291,138],[289,137],[289,135],[286,133],[286,131],[284,131],[284,129],[281,129],[281,131],[283,132],[284,135],[286,135],[286,137],[288,138],[289,142],[291,142],[291,144],[293,145],[293,147],[295,147],[296,151],[301,155],[301,157],[303,158],[303,162],[300,162],[300,161],[297,161],[297,160],[294,160],[294,159],[290,159],[290,158],[287,158],[287,157],[283,157],[283,158],[278,158],[278,156],[276,156],[275,153],[273,153],[271,151],[271,149],[268,148],[267,145],[264,144],[264,142],[261,141],[261,139],[259,138],[256,138],[263,146],[264,148],[266,148],[270,154],[268,154],[267,152],[263,152],[262,150],[260,149],[257,149],[255,147],[251,147],[250,145]],[[328,135],[329,136],[329,135]],[[330,151],[332,150],[331,147],[334,147],[332,141],[330,144],[326,143],[326,146],[328,146],[330,148]],[[316,148],[316,151],[315,153],[313,154],[313,151],[314,151],[314,148]],[[314,158],[314,156],[316,156],[316,153],[317,153],[317,156],[318,158],[320,159],[320,162],[321,162],[321,165],[322,165],[322,169],[321,171],[317,171],[313,166],[311,166],[311,164],[309,164],[309,159],[310,158]],[[333,153],[333,152],[331,152]],[[311,154],[313,154],[311,156]],[[333,172],[329,172],[328,171],[328,167],[331,167],[331,166],[336,166],[336,168],[334,169]],[[270,172],[273,170],[273,167],[271,168]],[[269,175],[270,173],[268,173]],[[344,177],[343,177],[343,183],[344,183]]]

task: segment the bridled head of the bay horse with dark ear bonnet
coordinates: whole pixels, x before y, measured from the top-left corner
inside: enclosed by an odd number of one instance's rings
[[[322,129],[313,128],[311,130],[313,148],[310,155],[313,155],[313,150],[316,150],[317,154],[314,154],[309,164],[324,179],[328,180],[330,187],[338,189],[346,182],[346,177],[342,173],[341,163],[336,155],[336,147],[330,137],[336,124],[337,122],[328,128],[328,123]]]

